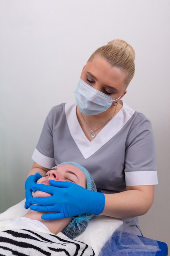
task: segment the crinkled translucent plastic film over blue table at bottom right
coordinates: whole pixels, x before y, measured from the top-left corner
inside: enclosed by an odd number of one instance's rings
[[[155,256],[158,251],[156,240],[118,229],[101,249],[99,256]]]

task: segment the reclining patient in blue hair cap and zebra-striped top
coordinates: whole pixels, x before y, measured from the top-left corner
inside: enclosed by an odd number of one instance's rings
[[[88,171],[74,162],[66,162],[53,167],[37,183],[49,185],[49,180],[69,181],[91,191],[97,191],[93,178]],[[36,191],[33,197],[47,197],[51,194]],[[43,220],[43,212],[29,211],[21,218],[13,220],[0,229],[0,255],[95,255],[93,249],[76,240],[92,214],[59,219]]]

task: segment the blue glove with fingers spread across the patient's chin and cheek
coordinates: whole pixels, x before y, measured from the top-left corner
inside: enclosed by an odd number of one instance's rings
[[[103,193],[84,189],[72,182],[49,180],[51,186],[34,184],[33,191],[44,191],[51,197],[29,198],[30,209],[34,211],[56,212],[41,216],[44,220],[57,220],[83,213],[100,214],[104,210],[105,196]]]

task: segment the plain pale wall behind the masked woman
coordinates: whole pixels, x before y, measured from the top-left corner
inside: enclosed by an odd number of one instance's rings
[[[74,101],[88,57],[115,38],[136,52],[124,101],[155,133],[159,185],[141,228],[170,246],[169,0],[0,0],[0,211],[24,198],[47,113]]]

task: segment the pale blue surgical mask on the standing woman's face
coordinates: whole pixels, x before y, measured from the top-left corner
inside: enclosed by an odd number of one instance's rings
[[[110,108],[112,103],[121,97],[114,99],[107,94],[96,90],[82,79],[79,80],[74,92],[79,110],[87,116],[99,115]]]

